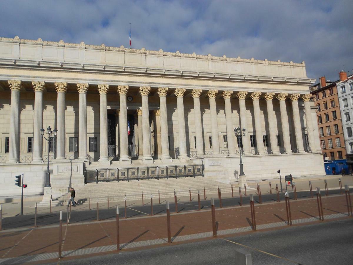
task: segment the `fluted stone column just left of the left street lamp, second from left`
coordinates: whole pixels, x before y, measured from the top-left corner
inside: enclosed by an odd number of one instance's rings
[[[33,159],[32,162],[43,161],[43,140],[40,129],[43,127],[43,91],[44,82],[33,81],[34,89],[34,122],[33,122]]]

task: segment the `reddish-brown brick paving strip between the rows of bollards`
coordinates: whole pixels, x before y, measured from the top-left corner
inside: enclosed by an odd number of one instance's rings
[[[316,196],[313,199],[291,200],[292,219],[318,216]],[[347,211],[345,195],[322,196],[324,216]],[[286,222],[286,206],[282,202],[255,204],[256,224]],[[122,213],[121,216],[124,214]],[[211,212],[202,211],[171,214],[171,234],[187,236],[211,232]],[[251,225],[250,206],[216,209],[218,231],[245,228]],[[0,259],[58,252],[58,227],[30,229],[25,231],[2,231],[0,233]],[[120,217],[120,247],[126,248],[132,242],[161,239],[166,242],[166,216]],[[116,223],[85,222],[83,224],[62,225],[62,251],[111,246],[116,243]],[[164,240],[164,241],[163,241]],[[167,243],[167,242],[166,242]]]

